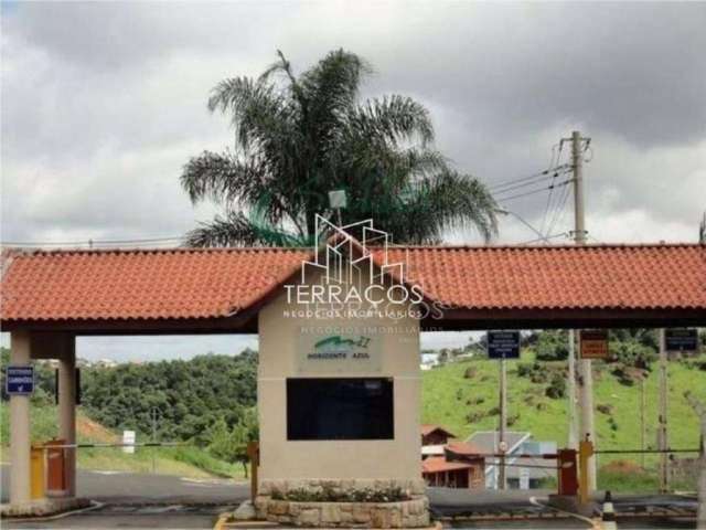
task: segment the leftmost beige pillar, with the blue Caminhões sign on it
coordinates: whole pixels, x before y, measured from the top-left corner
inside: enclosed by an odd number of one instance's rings
[[[10,364],[29,365],[30,333],[12,331]],[[30,396],[10,396],[10,504],[20,506],[30,498]]]

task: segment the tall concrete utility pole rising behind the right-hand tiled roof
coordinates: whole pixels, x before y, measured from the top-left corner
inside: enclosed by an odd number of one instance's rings
[[[584,141],[588,146],[590,138],[581,138],[578,130],[571,132],[571,168],[574,170],[574,242],[577,245],[586,244],[586,219],[584,213]],[[578,362],[579,389],[578,404],[580,410],[580,439],[588,439],[596,444],[596,430],[593,427],[593,374],[591,360],[581,359],[581,331],[578,331]],[[588,459],[587,466],[588,488],[596,490],[596,456]]]

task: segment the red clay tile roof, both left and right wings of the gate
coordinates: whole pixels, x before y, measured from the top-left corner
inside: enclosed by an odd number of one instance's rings
[[[1,320],[201,319],[280,287],[307,250],[13,253]],[[406,276],[452,308],[706,310],[705,245],[396,247]]]

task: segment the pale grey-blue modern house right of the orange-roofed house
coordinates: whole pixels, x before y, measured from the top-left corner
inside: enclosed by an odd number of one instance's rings
[[[500,451],[500,435],[496,431],[479,431],[470,435],[467,442],[478,447],[482,454]],[[544,480],[557,478],[556,459],[542,458],[544,454],[556,454],[555,442],[535,442],[532,439],[532,433],[513,431],[505,433],[505,442],[507,443],[505,480],[509,488],[536,489],[543,486]],[[485,487],[488,489],[498,489],[498,467],[496,458],[486,459]]]

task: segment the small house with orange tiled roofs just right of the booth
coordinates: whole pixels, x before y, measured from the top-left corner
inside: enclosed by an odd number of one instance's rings
[[[485,460],[472,444],[439,425],[421,425],[421,476],[429,486],[482,489]]]

